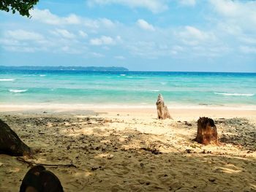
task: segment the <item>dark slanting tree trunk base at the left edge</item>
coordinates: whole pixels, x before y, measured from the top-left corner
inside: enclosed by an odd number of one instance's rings
[[[23,143],[15,131],[0,119],[0,154],[13,156],[31,155],[31,149]]]

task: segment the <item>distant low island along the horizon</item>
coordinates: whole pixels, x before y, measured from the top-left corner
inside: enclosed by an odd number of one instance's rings
[[[0,70],[77,70],[99,72],[127,72],[129,69],[122,66],[0,66]]]

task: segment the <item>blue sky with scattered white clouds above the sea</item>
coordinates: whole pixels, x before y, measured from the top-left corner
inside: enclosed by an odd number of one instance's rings
[[[256,72],[256,1],[39,0],[0,11],[0,65]]]

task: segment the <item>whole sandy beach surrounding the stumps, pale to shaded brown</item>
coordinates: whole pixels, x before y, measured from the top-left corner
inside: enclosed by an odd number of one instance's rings
[[[256,191],[256,110],[25,110],[1,119],[39,150],[64,191]],[[200,116],[213,118],[219,145],[193,142]],[[0,191],[18,191],[28,164],[0,155]]]

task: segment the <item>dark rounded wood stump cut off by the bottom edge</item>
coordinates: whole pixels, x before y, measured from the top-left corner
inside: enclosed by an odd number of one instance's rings
[[[20,185],[20,192],[63,192],[61,182],[44,166],[33,166]]]

